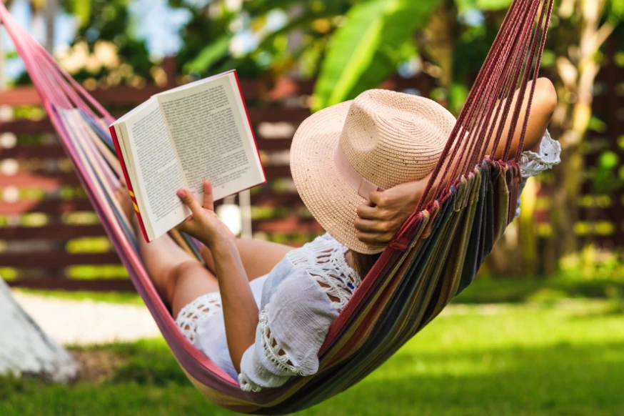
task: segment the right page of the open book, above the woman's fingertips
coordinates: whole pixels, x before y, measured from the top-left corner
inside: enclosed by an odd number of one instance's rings
[[[156,95],[189,189],[201,199],[203,181],[221,199],[264,182],[236,76]]]

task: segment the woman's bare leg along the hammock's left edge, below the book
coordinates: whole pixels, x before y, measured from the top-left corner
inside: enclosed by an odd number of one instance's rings
[[[121,186],[115,192],[116,198],[131,218],[135,233],[139,232],[139,223],[128,194],[128,189]],[[173,317],[180,309],[202,294],[218,292],[218,282],[213,273],[185,252],[167,234],[151,243],[140,237],[139,254],[163,301],[171,308]]]

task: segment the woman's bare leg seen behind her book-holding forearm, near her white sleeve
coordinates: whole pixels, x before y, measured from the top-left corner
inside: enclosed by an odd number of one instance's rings
[[[236,245],[249,282],[271,272],[271,269],[284,258],[286,253],[293,249],[293,247],[284,244],[256,239],[236,239]],[[201,246],[200,254],[206,262],[208,270],[212,274],[216,274],[210,249]]]

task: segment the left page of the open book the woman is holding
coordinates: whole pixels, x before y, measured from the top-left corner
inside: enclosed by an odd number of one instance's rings
[[[132,186],[145,207],[140,207],[141,216],[149,219],[153,238],[157,238],[186,219],[190,212],[176,195],[186,184],[158,101],[151,101],[141,112],[126,119],[126,130],[138,179]],[[145,225],[147,228],[148,224]]]

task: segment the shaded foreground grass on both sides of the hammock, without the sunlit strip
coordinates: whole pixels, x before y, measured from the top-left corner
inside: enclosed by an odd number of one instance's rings
[[[1,415],[226,415],[163,345],[131,353],[111,379],[0,382]],[[302,415],[621,415],[624,343],[481,352],[401,350],[366,380]],[[127,356],[126,356],[127,357]]]

